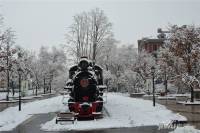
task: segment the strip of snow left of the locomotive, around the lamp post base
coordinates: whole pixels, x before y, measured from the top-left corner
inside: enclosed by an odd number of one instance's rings
[[[18,106],[9,107],[0,112],[0,131],[12,130],[33,114],[57,112],[64,110],[64,108],[62,105],[62,96],[23,103],[21,111],[18,111]]]

